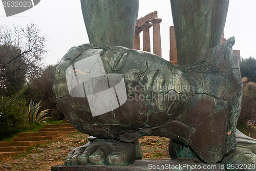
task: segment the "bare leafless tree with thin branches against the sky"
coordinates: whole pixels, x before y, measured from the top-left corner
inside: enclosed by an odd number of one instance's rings
[[[30,23],[25,28],[0,26],[0,63],[3,79],[9,87],[18,86],[41,74],[46,57],[46,35],[42,35],[36,24]]]

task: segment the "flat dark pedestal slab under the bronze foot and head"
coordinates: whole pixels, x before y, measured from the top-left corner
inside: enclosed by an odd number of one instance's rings
[[[74,165],[74,166],[52,166],[51,171],[146,171],[146,170],[216,170],[224,169],[224,164],[204,164],[196,159],[161,159],[161,160],[135,160],[128,166],[109,165]]]

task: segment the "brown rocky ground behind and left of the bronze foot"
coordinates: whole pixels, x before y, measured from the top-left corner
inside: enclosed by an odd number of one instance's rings
[[[75,147],[88,142],[88,135],[75,133],[59,138],[49,144],[37,146],[7,161],[0,161],[0,170],[51,170],[53,165],[61,165],[68,153]],[[143,159],[169,158],[168,138],[145,136],[140,138]]]

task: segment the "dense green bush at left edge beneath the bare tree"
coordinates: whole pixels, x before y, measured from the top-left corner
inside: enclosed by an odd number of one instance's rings
[[[17,97],[0,99],[0,139],[12,136],[29,127],[26,101]]]

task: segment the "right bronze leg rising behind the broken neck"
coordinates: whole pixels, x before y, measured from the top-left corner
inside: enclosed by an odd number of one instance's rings
[[[202,61],[210,48],[221,45],[229,0],[171,0],[170,3],[178,64]]]

